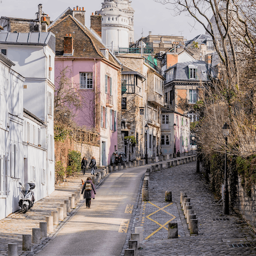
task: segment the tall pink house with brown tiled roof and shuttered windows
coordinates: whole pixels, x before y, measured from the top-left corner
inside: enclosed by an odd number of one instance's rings
[[[66,69],[74,93],[82,107],[75,112],[79,126],[100,134],[100,163],[110,164],[118,149],[117,116],[121,115],[121,63],[101,42],[93,29],[85,26],[85,11],[68,8],[49,26],[56,36],[55,84]]]

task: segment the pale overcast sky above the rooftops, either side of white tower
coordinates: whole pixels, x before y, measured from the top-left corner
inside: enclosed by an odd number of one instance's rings
[[[103,0],[0,0],[0,17],[14,17],[35,19],[38,4],[43,4],[43,12],[49,14],[51,20],[55,20],[67,7],[76,5],[85,7],[86,26],[90,27],[90,15],[101,9]],[[185,14],[173,16],[173,11],[166,9],[166,5],[154,2],[154,0],[133,0],[134,14],[134,39],[147,36],[149,31],[153,35],[184,36],[185,39],[193,39],[199,34],[205,34],[202,25],[195,24],[193,18]]]

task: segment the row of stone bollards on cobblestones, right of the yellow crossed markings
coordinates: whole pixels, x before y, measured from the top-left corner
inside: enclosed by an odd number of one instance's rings
[[[198,219],[196,218],[196,214],[194,214],[194,210],[192,209],[192,205],[190,203],[190,198],[188,198],[186,193],[180,193],[180,204],[183,209],[183,213],[185,215],[185,219],[187,220],[188,228],[190,230],[190,234],[198,234]]]

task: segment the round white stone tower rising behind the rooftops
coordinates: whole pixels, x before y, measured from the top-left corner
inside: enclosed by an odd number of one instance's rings
[[[104,0],[98,12],[102,15],[102,41],[108,47],[117,51],[119,48],[129,48],[129,42],[134,41],[134,10],[130,0]]]

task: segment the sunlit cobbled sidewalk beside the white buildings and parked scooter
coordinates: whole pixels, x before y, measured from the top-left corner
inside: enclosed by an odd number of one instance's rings
[[[8,255],[7,248],[9,243],[18,243],[18,255],[33,255],[31,252],[22,251],[22,235],[32,235],[32,229],[39,228],[39,222],[45,221],[46,216],[51,216],[51,211],[56,211],[57,207],[60,207],[60,204],[63,204],[71,194],[74,194],[74,191],[77,191],[78,188],[82,188],[81,179],[85,180],[87,177],[91,176],[91,173],[87,170],[86,175],[78,173],[76,177],[69,177],[67,178],[67,182],[63,182],[60,183],[60,185],[55,186],[55,191],[51,196],[45,197],[36,202],[33,210],[28,211],[25,214],[18,211],[10,214],[7,218],[0,220],[0,255]],[[101,180],[100,184],[95,186],[95,188],[99,187],[105,179]],[[38,250],[49,242],[51,237],[53,237],[58,230],[62,228],[82,203],[83,201],[78,203],[76,209],[68,213],[66,219],[60,221],[58,226],[53,226],[53,233],[51,233],[47,238],[41,239],[40,245],[32,244],[34,249],[36,248]]]

